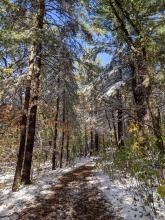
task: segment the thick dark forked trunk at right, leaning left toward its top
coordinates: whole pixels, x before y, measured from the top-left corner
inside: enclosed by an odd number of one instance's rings
[[[109,1],[112,11],[120,24],[120,29],[123,32],[125,42],[128,44],[129,52],[132,54],[133,60],[131,61],[132,68],[132,90],[136,105],[137,123],[139,125],[139,133],[144,137],[144,119],[146,114],[146,102],[150,94],[150,82],[148,77],[149,71],[146,68],[146,49],[141,44],[140,38],[142,37],[139,28],[134,24],[127,11],[123,9],[120,1]],[[118,9],[119,10],[118,10]],[[120,12],[119,12],[120,11]],[[134,29],[137,39],[134,41],[127,28],[129,23]],[[147,79],[148,85],[144,85]],[[142,146],[145,143],[141,144]]]

